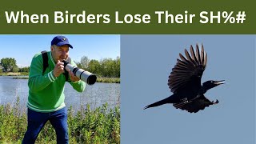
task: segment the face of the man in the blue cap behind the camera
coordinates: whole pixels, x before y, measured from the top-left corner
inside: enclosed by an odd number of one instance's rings
[[[51,46],[50,47],[52,56],[54,58],[54,62],[62,62],[63,60],[66,60],[66,58],[69,57],[69,46],[63,45],[63,46]]]

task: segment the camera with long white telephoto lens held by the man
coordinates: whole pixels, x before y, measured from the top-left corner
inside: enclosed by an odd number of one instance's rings
[[[70,65],[69,62],[63,61],[64,62],[64,68],[66,71],[72,71],[75,76],[80,78],[83,82],[86,82],[88,85],[93,85],[97,77],[95,74],[91,74],[89,71],[79,69],[78,67]]]

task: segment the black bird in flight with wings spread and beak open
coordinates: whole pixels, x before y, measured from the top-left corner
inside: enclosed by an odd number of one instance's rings
[[[202,73],[206,69],[207,54],[205,50],[199,51],[198,44],[196,51],[190,46],[190,54],[185,49],[186,58],[179,54],[180,59],[170,73],[168,86],[174,94],[161,101],[154,102],[144,107],[144,110],[154,106],[161,106],[172,103],[175,108],[187,110],[190,113],[197,113],[210,105],[218,103],[218,100],[210,101],[205,97],[207,90],[223,84],[225,81],[207,81],[201,85]]]

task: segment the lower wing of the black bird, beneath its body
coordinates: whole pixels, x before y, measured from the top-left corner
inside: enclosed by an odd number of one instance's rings
[[[187,110],[190,113],[197,113],[199,110],[204,110],[206,107],[217,103],[218,100],[216,100],[216,102],[210,102],[208,98],[202,95],[189,102],[174,103],[173,105],[176,109]]]

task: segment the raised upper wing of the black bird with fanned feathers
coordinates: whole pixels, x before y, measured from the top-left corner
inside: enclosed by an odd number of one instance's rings
[[[197,91],[201,88],[202,73],[206,68],[207,54],[203,49],[199,51],[198,44],[196,45],[196,52],[190,46],[190,54],[185,50],[186,58],[179,54],[181,59],[177,59],[177,63],[172,69],[168,79],[168,86],[175,94],[179,90]]]

